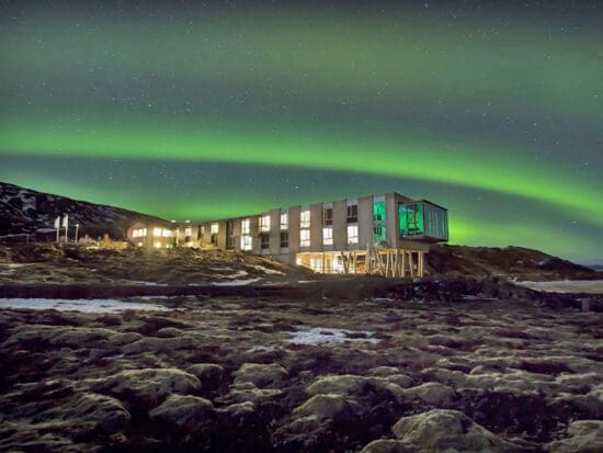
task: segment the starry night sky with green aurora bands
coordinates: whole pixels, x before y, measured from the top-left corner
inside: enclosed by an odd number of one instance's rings
[[[603,258],[603,2],[0,9],[0,180],[169,219],[398,191]]]

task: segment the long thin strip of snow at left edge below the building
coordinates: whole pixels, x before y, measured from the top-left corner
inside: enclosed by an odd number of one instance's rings
[[[169,312],[158,304],[123,302],[112,298],[61,299],[61,298],[0,298],[0,309],[56,309],[59,312],[120,313],[128,309],[145,312]]]

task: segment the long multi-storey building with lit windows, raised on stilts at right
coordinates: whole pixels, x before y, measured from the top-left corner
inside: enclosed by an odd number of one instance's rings
[[[448,220],[442,206],[390,192],[186,222],[174,235],[174,245],[243,250],[320,273],[401,278],[423,275],[429,245],[448,240]],[[150,244],[158,247],[159,241]],[[137,244],[136,239],[133,242]]]

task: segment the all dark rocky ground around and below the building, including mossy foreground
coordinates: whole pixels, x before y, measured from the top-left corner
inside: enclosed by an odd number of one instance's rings
[[[413,282],[0,248],[4,297],[72,299],[0,299],[0,450],[600,451],[603,296],[508,280],[596,273],[538,253],[441,248]]]

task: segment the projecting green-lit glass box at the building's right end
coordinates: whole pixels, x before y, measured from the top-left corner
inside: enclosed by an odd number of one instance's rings
[[[429,202],[411,202],[398,207],[400,238],[424,236],[448,240],[448,213]]]

